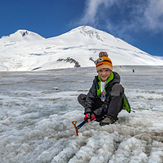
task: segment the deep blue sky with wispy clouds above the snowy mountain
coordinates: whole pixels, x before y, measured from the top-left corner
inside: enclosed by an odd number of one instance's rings
[[[0,0],[0,37],[19,29],[54,37],[89,25],[163,56],[163,0]]]

